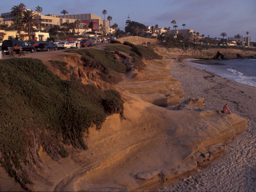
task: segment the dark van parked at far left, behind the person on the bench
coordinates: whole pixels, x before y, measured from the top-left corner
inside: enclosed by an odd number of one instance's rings
[[[29,45],[28,42],[26,41],[19,41],[19,40],[4,40],[2,44],[2,50],[6,54],[9,54],[8,52],[8,47],[13,48],[17,44],[19,47],[22,48],[22,51],[29,51],[29,52],[34,52],[35,46]]]

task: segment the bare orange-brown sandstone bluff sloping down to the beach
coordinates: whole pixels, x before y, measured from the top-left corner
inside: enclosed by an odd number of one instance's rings
[[[42,166],[28,185],[32,191],[155,191],[206,167],[247,129],[247,120],[204,108],[202,99],[180,104],[183,92],[169,75],[169,58],[146,60],[144,70],[122,75],[115,85],[102,81],[96,70],[84,68],[78,54],[61,52],[39,59],[64,80],[70,76],[61,74],[49,60],[67,62],[83,84],[118,90],[124,119],[113,114],[100,130],[90,127],[84,138],[88,149],[65,145],[67,158],[52,160],[40,147]],[[170,105],[178,107],[164,108]],[[0,170],[1,189],[14,190],[10,183],[14,179]]]

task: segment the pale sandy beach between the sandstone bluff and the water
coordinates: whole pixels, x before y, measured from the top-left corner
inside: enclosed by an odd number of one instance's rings
[[[248,130],[227,144],[227,153],[210,167],[160,191],[255,191],[256,87],[194,68],[185,60],[170,61],[170,75],[184,90],[181,101],[205,98],[206,107],[216,109],[222,109],[227,103],[231,112],[248,120]]]

